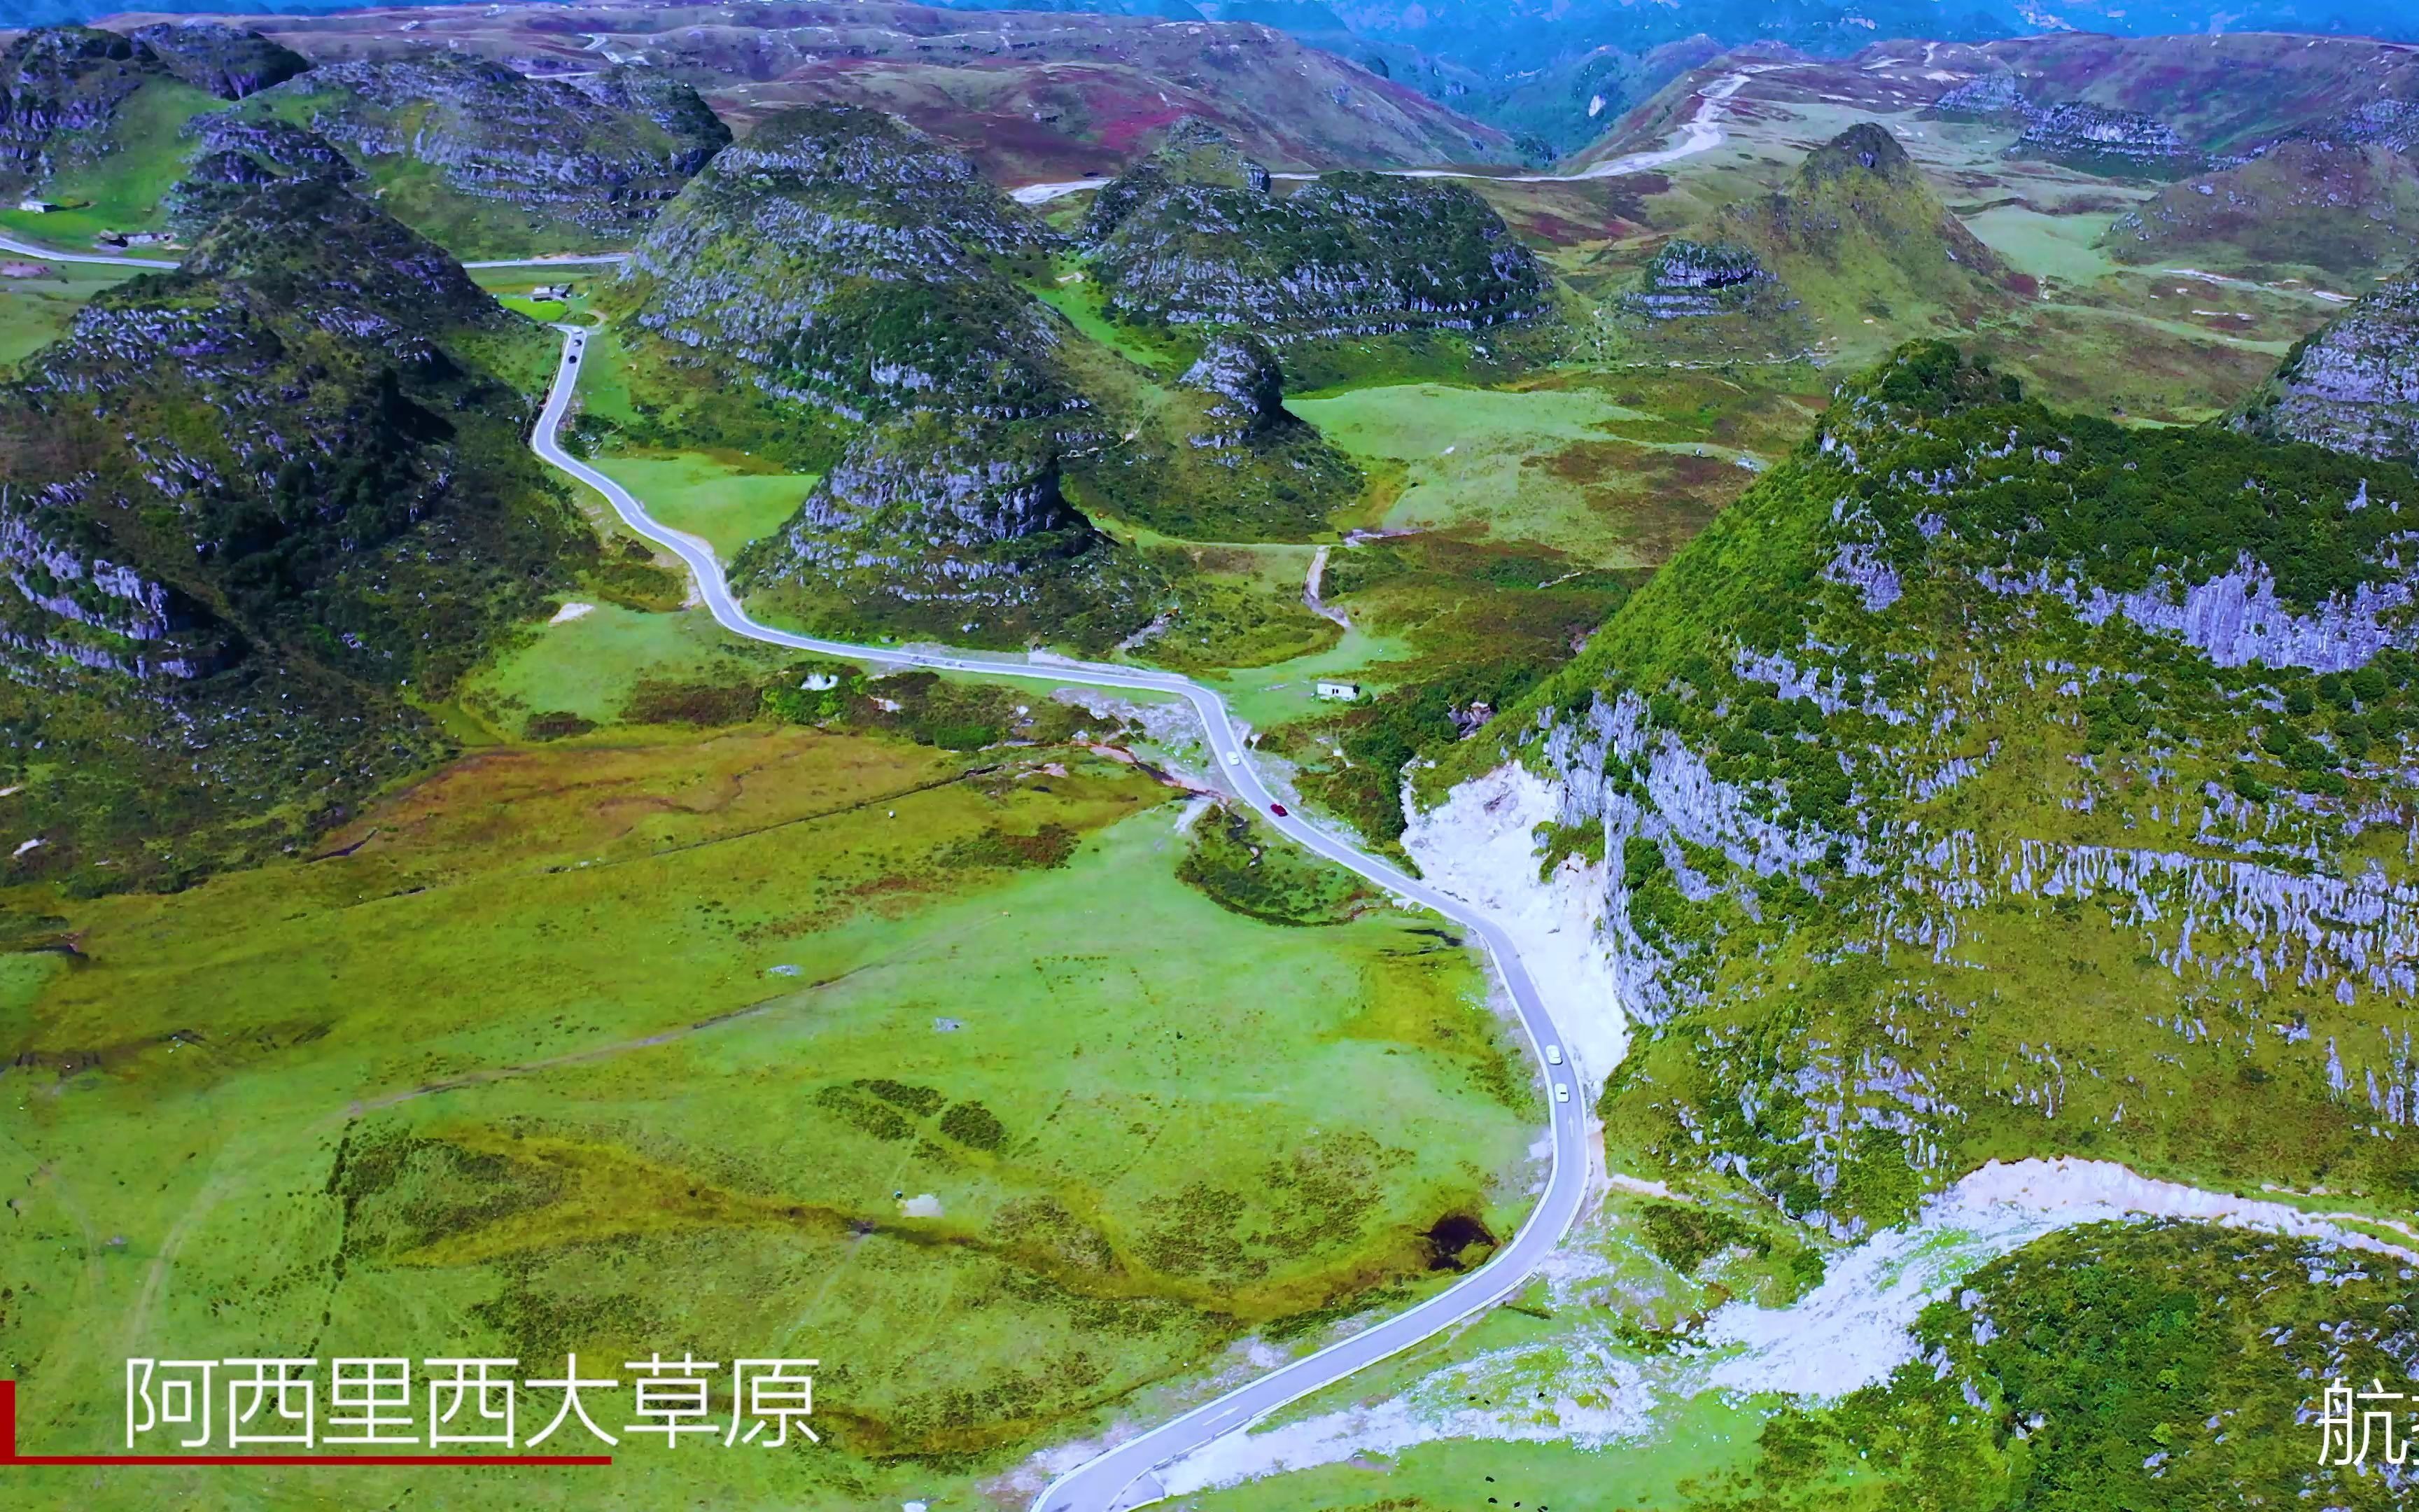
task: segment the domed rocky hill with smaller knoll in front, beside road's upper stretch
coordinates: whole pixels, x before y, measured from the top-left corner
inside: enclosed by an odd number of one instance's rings
[[[1149,598],[1060,491],[1091,404],[1062,324],[1006,273],[1047,242],[963,155],[856,106],[762,121],[663,213],[605,302],[670,360],[847,438],[781,535],[740,556],[745,588],[1011,644],[1079,639],[1064,631]]]

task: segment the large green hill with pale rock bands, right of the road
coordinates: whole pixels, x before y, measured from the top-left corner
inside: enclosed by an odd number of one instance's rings
[[[1843,385],[1500,721],[1601,825],[1616,1164],[1838,1234],[2042,1152],[2407,1200],[2414,547],[2395,464]]]

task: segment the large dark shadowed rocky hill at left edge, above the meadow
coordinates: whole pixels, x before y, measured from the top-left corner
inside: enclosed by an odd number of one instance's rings
[[[319,179],[227,208],[0,389],[0,721],[44,847],[184,876],[285,844],[440,738],[440,699],[595,547],[520,443],[537,331]]]

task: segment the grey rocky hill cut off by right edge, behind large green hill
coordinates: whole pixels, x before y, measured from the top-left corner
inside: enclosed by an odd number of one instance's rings
[[[2233,423],[2276,440],[2419,460],[2419,266],[2303,339]]]

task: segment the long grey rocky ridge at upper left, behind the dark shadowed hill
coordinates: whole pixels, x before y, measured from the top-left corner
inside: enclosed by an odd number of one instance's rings
[[[636,237],[731,131],[658,70],[535,80],[503,63],[414,51],[329,63],[254,99],[307,114],[370,177],[426,165],[455,196],[597,240]]]

